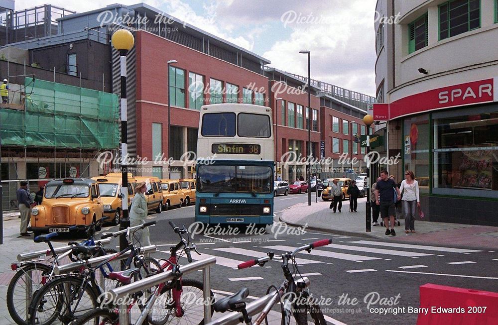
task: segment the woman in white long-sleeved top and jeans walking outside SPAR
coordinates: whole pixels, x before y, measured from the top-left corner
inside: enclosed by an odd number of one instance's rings
[[[405,216],[405,232],[415,232],[415,211],[420,207],[420,195],[418,182],[411,170],[405,172],[405,179],[401,182],[399,191],[403,192],[401,204]]]

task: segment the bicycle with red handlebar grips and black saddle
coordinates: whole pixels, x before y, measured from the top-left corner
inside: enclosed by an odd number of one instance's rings
[[[310,280],[306,277],[301,276],[301,273],[299,272],[297,263],[295,261],[295,255],[303,250],[306,250],[308,251],[308,253],[310,253],[313,248],[325,246],[331,243],[332,239],[319,240],[314,243],[298,247],[293,252],[285,252],[280,256],[276,256],[273,251],[269,251],[266,253],[267,256],[265,257],[249,260],[238,265],[239,269],[244,269],[254,265],[263,266],[266,262],[273,259],[282,261],[282,271],[285,277],[285,281],[282,282],[279,288],[273,285],[268,288],[266,294],[269,294],[270,290],[274,289],[274,295],[265,305],[254,323],[252,323],[252,319],[251,317],[249,317],[246,310],[245,299],[249,296],[249,290],[247,288],[243,288],[239,292],[229,297],[220,299],[213,305],[214,310],[220,313],[224,313],[226,311],[240,312],[243,316],[242,320],[247,325],[260,325],[263,320],[267,325],[268,313],[279,301],[282,313],[282,325],[289,325],[292,315],[294,316],[297,325],[307,325],[308,313],[310,314],[315,325],[326,325],[327,323],[325,322],[323,312],[318,305],[317,300],[314,299],[309,293],[308,288],[310,285]],[[289,261],[292,262],[292,265],[294,267],[293,271],[289,269]]]

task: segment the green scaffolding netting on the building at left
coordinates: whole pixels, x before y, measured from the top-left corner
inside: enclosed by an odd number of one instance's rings
[[[114,149],[118,96],[25,78],[25,111],[1,109],[1,144]]]

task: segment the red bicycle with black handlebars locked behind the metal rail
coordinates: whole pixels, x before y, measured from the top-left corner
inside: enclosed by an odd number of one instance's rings
[[[141,314],[134,325],[165,325],[171,322],[174,322],[175,324],[204,324],[204,318],[202,316],[200,319],[195,318],[197,315],[203,315],[203,304],[197,304],[197,306],[200,307],[200,310],[192,311],[187,307],[189,307],[188,305],[193,304],[186,304],[185,301],[182,301],[181,299],[183,295],[184,297],[192,299],[194,303],[203,301],[204,284],[197,280],[182,279],[180,265],[177,263],[178,259],[184,255],[187,256],[189,263],[192,262],[192,250],[199,255],[200,253],[197,251],[195,244],[190,243],[185,225],[183,225],[183,228],[180,228],[171,221],[169,221],[169,224],[175,233],[180,236],[180,241],[176,246],[170,248],[171,256],[168,259],[161,259],[164,260],[164,263],[157,272],[172,270],[176,277],[172,281],[161,283],[154,289],[153,293],[147,297],[146,303],[141,308]],[[183,236],[185,234],[187,239]],[[177,254],[179,250],[180,253]],[[191,296],[191,292],[194,292],[195,297]],[[214,295],[211,293],[211,298],[213,297]],[[131,303],[127,307],[128,311],[133,304],[136,303],[136,300],[137,297],[133,296]],[[211,314],[212,313],[213,309],[211,309]],[[119,325],[118,308],[117,306],[106,306],[105,308],[90,311],[81,318],[78,318],[72,325],[83,324]]]

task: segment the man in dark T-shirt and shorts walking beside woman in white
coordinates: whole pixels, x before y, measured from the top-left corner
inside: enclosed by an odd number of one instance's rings
[[[394,215],[396,214],[396,207],[394,206],[394,192],[396,193],[397,200],[401,199],[401,193],[393,180],[389,179],[387,171],[380,172],[380,181],[375,186],[375,204],[379,207],[380,217],[384,220],[386,235],[396,235],[394,231]],[[389,218],[391,221],[392,229],[389,230]]]

